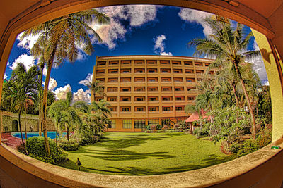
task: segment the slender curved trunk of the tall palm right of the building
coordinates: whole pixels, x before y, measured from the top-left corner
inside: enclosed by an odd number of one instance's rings
[[[240,82],[241,82],[241,86],[243,88],[243,93],[245,94],[245,98],[248,102],[248,109],[250,111],[250,118],[251,118],[251,121],[252,121],[252,126],[253,126],[253,139],[255,139],[255,133],[256,133],[256,127],[255,127],[255,114],[253,113],[253,107],[250,103],[250,97],[248,96],[248,92],[247,92],[247,89],[246,89],[246,86],[245,86],[245,83],[243,82],[243,78],[241,76],[241,73],[240,73],[240,70],[238,68],[238,63],[234,62],[234,65],[235,65],[235,68],[236,68],[236,72],[237,72],[237,75],[240,79]]]

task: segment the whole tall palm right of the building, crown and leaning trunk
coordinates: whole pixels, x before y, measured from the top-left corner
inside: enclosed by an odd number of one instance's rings
[[[248,96],[246,84],[240,72],[241,63],[244,62],[245,58],[252,58],[260,54],[260,51],[247,51],[247,46],[253,33],[250,32],[244,37],[243,25],[241,24],[237,24],[236,29],[233,30],[230,23],[221,23],[209,18],[204,19],[204,21],[211,27],[213,34],[209,35],[207,39],[193,39],[188,44],[190,46],[196,46],[196,54],[216,58],[212,65],[232,63],[233,70],[241,83],[250,110],[251,123],[253,125],[253,139],[255,139],[255,115],[250,97]]]

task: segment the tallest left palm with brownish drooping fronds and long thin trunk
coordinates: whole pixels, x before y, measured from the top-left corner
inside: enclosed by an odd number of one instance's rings
[[[42,112],[43,112],[43,132],[45,137],[45,149],[50,154],[50,147],[47,138],[47,91],[50,81],[50,73],[53,66],[59,66],[68,60],[76,61],[79,54],[79,46],[90,55],[93,52],[91,37],[93,35],[101,42],[101,38],[88,24],[98,23],[105,24],[109,22],[109,18],[103,13],[91,9],[79,13],[71,13],[54,20],[47,21],[35,27],[26,30],[21,39],[30,35],[40,35],[37,42],[46,39],[47,46],[44,51],[44,58],[47,61],[47,75],[45,78],[45,88],[43,92]],[[90,34],[89,34],[90,33]],[[37,42],[35,45],[37,45]]]

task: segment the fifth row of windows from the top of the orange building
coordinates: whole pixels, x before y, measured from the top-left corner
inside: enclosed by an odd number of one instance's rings
[[[131,96],[120,96],[120,101],[131,101]],[[96,101],[103,99],[103,96],[97,96]],[[108,96],[107,101],[117,101],[117,96]],[[195,96],[187,96],[188,100],[194,100]],[[148,101],[158,101],[159,96],[148,96]],[[161,96],[162,101],[173,101],[173,96]],[[184,101],[185,96],[175,96],[175,101]],[[134,101],[146,101],[145,96],[134,96]]]

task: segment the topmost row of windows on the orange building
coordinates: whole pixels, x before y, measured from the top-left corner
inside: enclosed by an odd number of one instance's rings
[[[105,66],[107,64],[106,61],[98,61],[98,66]],[[147,63],[148,65],[157,65],[158,61],[156,60],[122,60],[120,61],[122,65],[131,65],[134,63],[134,65],[144,65]],[[209,66],[210,63],[204,63],[204,62],[192,62],[192,61],[169,61],[169,60],[160,60],[159,63],[161,65],[195,65],[195,66]],[[119,61],[109,61],[108,65],[119,65]]]

